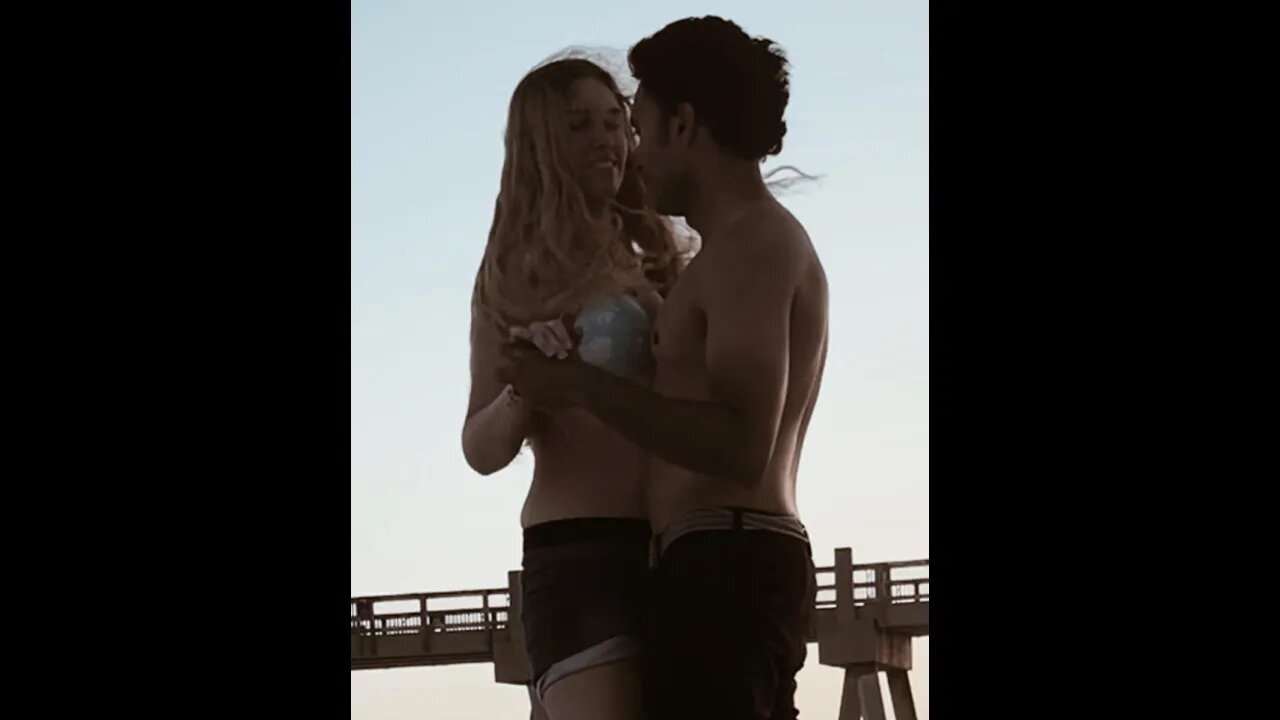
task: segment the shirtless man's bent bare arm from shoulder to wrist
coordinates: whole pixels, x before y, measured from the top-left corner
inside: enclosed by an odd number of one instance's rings
[[[753,247],[716,258],[699,288],[712,400],[664,397],[584,366],[572,401],[662,460],[754,487],[786,398],[795,261],[782,238],[742,245]]]

